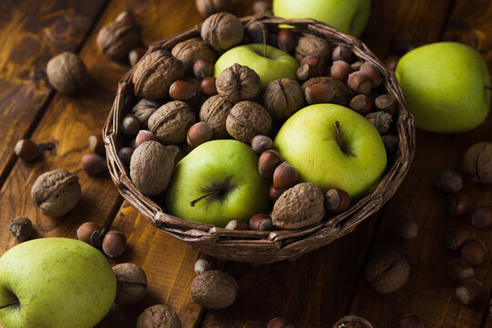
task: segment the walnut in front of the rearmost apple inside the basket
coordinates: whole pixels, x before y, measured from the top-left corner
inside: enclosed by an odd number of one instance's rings
[[[260,92],[260,77],[250,67],[234,64],[224,69],[215,82],[219,95],[236,104],[255,98]]]

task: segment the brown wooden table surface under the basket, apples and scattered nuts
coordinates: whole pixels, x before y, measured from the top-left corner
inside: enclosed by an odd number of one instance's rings
[[[252,1],[242,0],[239,15],[251,14]],[[237,278],[238,300],[228,309],[207,311],[190,299],[193,264],[199,253],[154,229],[118,195],[108,174],[78,174],[83,198],[63,219],[50,219],[36,208],[29,193],[36,177],[49,169],[75,171],[87,153],[87,138],[98,134],[115,97],[118,79],[129,67],[102,56],[97,31],[125,9],[133,10],[149,44],[190,28],[201,21],[193,0],[2,0],[0,2],[0,250],[15,240],[7,225],[16,215],[30,217],[39,237],[75,238],[84,221],[118,227],[128,237],[128,251],[118,262],[141,265],[149,277],[144,302],[115,308],[97,327],[133,327],[144,308],[155,303],[171,306],[183,327],[265,327],[274,316],[288,318],[296,327],[331,327],[346,313],[357,313],[376,327],[396,327],[405,314],[416,313],[426,327],[492,327],[487,306],[492,287],[492,254],[477,267],[487,297],[472,307],[456,301],[455,282],[446,276],[446,262],[456,253],[446,251],[443,239],[456,227],[469,230],[492,249],[492,234],[477,230],[470,218],[451,218],[443,197],[433,187],[445,168],[461,171],[466,149],[492,139],[492,118],[479,128],[459,135],[417,131],[415,162],[404,185],[378,215],[364,221],[349,236],[302,256],[251,267],[228,262],[225,270]],[[373,0],[370,35],[363,40],[384,59],[389,40],[398,30],[414,36],[415,45],[453,40],[476,48],[492,69],[492,2],[487,0]],[[87,65],[90,81],[83,92],[63,96],[46,79],[46,62],[62,51],[74,51]],[[492,70],[491,70],[492,72]],[[15,158],[15,142],[32,138],[52,141],[56,149],[43,159]],[[466,181],[464,191],[475,205],[492,203],[490,185]],[[408,216],[417,221],[419,236],[401,241],[391,232],[393,222]],[[375,293],[364,279],[368,256],[380,247],[405,254],[412,272],[405,286],[392,294]],[[116,262],[116,261],[115,261]]]

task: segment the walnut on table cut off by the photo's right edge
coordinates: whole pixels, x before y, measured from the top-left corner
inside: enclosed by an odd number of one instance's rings
[[[492,142],[479,142],[466,150],[463,158],[466,176],[474,182],[492,182]]]

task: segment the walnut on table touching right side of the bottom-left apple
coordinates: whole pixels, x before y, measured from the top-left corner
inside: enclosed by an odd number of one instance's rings
[[[141,302],[147,291],[147,275],[138,265],[121,263],[113,267],[117,279],[115,302],[128,306]]]

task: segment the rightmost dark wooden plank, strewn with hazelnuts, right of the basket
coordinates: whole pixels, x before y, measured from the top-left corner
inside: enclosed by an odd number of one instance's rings
[[[492,67],[490,41],[492,4],[488,1],[456,1],[446,26],[445,40],[475,47]],[[364,278],[354,298],[350,313],[359,313],[376,326],[396,326],[400,316],[416,313],[425,327],[479,327],[487,312],[487,299],[472,307],[456,300],[456,283],[446,275],[447,261],[459,256],[447,251],[443,239],[446,232],[463,228],[472,238],[480,238],[490,249],[492,236],[470,223],[469,215],[455,219],[444,211],[444,197],[433,184],[441,169],[462,172],[461,160],[466,149],[478,141],[492,138],[492,118],[479,128],[459,135],[438,135],[417,131],[415,164],[405,185],[384,210],[383,224],[378,231],[377,247],[393,247],[405,254],[412,273],[404,288],[390,295],[378,295]],[[465,180],[464,192],[475,206],[491,204],[490,186]],[[417,221],[419,236],[412,241],[399,241],[391,233],[393,221],[408,216]],[[476,268],[476,276],[484,282],[487,294],[492,286],[492,254]],[[371,302],[369,302],[371,300]],[[487,326],[492,323],[487,321]]]

